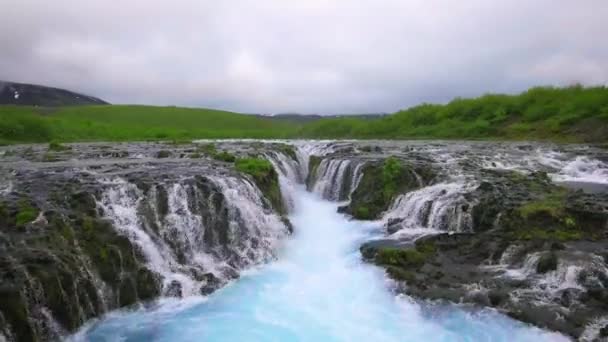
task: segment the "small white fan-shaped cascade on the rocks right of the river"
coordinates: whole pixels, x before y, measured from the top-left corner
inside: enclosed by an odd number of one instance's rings
[[[472,229],[469,203],[464,194],[472,189],[464,182],[438,183],[399,196],[384,214],[389,232],[428,229],[436,232],[468,232]]]

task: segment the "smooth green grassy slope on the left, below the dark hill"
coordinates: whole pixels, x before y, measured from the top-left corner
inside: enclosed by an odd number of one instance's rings
[[[287,138],[299,127],[253,115],[153,106],[0,106],[0,141]]]

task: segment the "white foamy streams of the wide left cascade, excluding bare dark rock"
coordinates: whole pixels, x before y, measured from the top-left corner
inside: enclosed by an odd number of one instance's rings
[[[166,187],[168,200],[168,213],[161,218],[154,189],[144,194],[135,184],[121,178],[102,180],[107,189],[98,205],[115,229],[139,247],[147,266],[162,276],[164,291],[177,282],[183,296],[196,296],[204,282],[196,280],[192,268],[225,280],[234,269],[238,271],[273,259],[288,234],[280,217],[265,208],[262,193],[249,181],[228,176],[209,177],[209,180],[226,199],[227,241],[221,247],[204,242],[206,229],[211,228],[204,226],[201,213],[195,209],[197,204],[192,202],[210,199],[200,197],[203,194],[192,185],[181,182],[160,185]],[[193,195],[189,196],[189,192]],[[152,210],[156,229],[144,222],[144,205]],[[230,265],[225,254],[230,256]]]

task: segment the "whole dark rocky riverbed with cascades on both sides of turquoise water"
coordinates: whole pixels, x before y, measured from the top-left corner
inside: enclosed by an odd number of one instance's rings
[[[268,161],[264,163],[265,161]],[[0,148],[0,337],[58,339],[276,256],[290,186],[382,237],[397,293],[608,334],[608,152],[582,145],[199,141]],[[321,237],[322,238],[322,237]]]

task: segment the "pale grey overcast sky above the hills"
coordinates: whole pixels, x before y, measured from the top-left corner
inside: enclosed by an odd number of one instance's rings
[[[608,83],[608,0],[0,0],[0,79],[113,103],[391,112]]]

